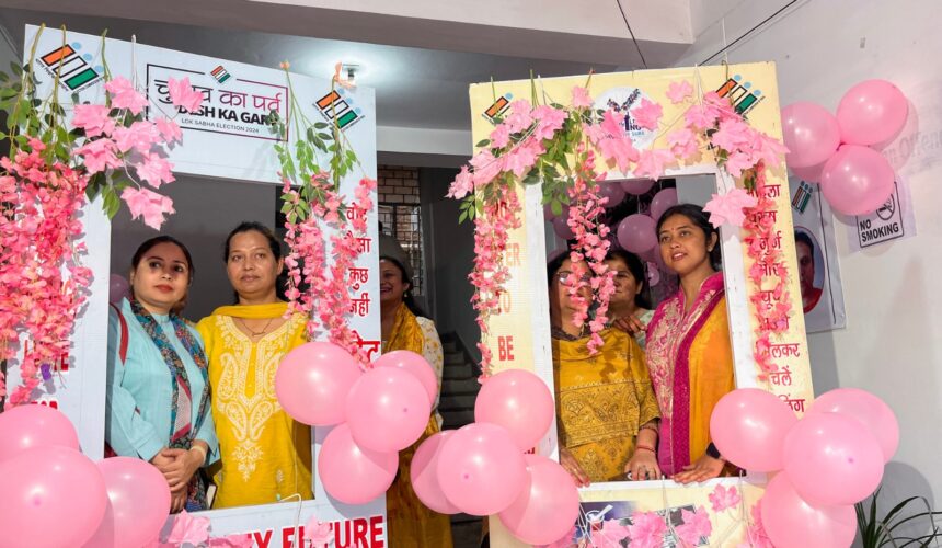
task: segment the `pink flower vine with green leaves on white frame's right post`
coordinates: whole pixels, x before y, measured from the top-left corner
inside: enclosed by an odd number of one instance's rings
[[[367,215],[374,209],[370,192],[376,180],[367,176],[336,116],[332,124],[308,119],[291,85],[289,68],[288,62],[282,64],[288,82],[286,119],[277,111],[268,118],[272,133],[283,141],[275,151],[284,183],[282,213],[290,249],[285,259],[288,313],[308,318],[309,338],[325,334],[366,365],[360,340],[347,324],[353,306],[349,272],[365,250],[361,242]],[[332,81],[331,91],[336,85],[336,80]],[[347,199],[341,194],[341,183],[355,169],[361,176],[353,199]],[[325,237],[328,230],[332,231],[330,238]]]

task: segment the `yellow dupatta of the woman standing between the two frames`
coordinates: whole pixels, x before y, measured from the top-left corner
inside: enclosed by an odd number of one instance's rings
[[[423,355],[425,338],[415,315],[405,305],[395,311],[389,341],[382,352],[407,350]],[[429,436],[438,432],[438,421],[430,416],[422,437],[413,445],[399,452],[399,473],[392,487],[386,492],[386,513],[388,525],[388,546],[450,547],[451,522],[447,515],[439,514],[422,504],[412,490],[410,469],[415,449]]]

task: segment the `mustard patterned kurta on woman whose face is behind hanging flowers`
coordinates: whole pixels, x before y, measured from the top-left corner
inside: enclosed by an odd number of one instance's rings
[[[622,481],[639,426],[660,413],[637,342],[618,329],[601,338],[595,356],[588,338],[553,339],[560,445],[591,481]]]

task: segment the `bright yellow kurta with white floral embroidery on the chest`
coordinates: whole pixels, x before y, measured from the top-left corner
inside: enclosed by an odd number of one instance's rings
[[[278,318],[285,302],[217,308],[197,329],[206,342],[212,419],[220,467],[212,507],[267,504],[311,492],[310,427],[295,422],[275,395],[282,357],[305,339],[305,320],[292,317],[253,343],[236,318]]]

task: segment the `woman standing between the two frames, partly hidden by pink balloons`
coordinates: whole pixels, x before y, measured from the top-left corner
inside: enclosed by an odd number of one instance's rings
[[[382,352],[407,350],[428,361],[441,388],[444,356],[441,342],[432,320],[420,316],[418,308],[409,295],[412,269],[409,258],[395,240],[380,240],[379,302],[382,321]],[[412,490],[410,468],[415,449],[422,442],[439,431],[441,420],[434,411],[425,433],[415,444],[399,452],[399,473],[386,493],[388,545],[409,547],[451,546],[451,522],[422,504]]]

